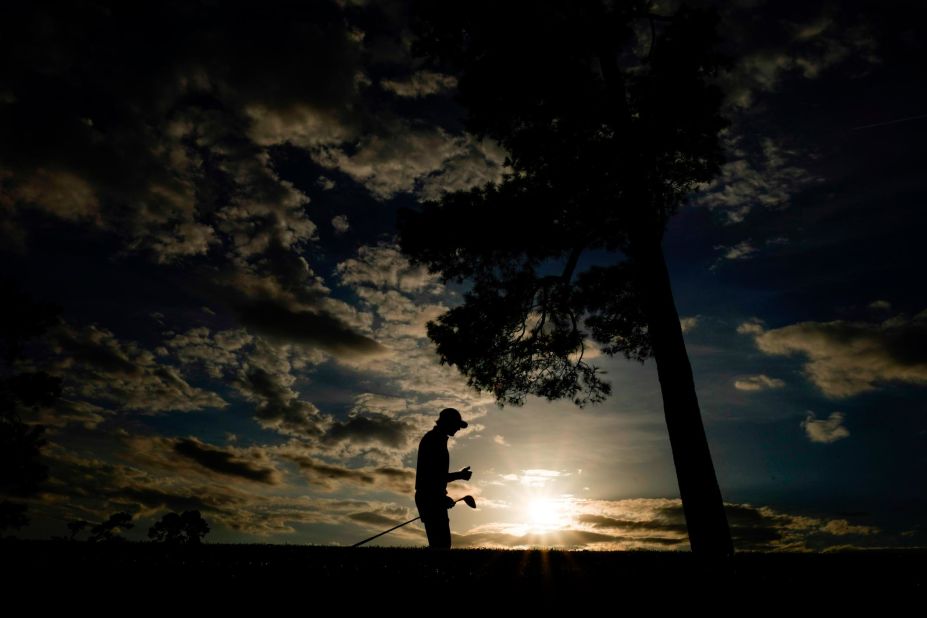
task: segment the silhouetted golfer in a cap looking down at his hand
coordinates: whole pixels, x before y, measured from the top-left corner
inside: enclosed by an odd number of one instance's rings
[[[415,467],[415,506],[425,523],[428,546],[433,549],[450,549],[451,522],[447,510],[454,500],[447,495],[451,481],[469,481],[472,472],[467,466],[459,472],[448,472],[450,455],[447,439],[467,426],[454,408],[444,408],[435,426],[418,444],[418,464]]]

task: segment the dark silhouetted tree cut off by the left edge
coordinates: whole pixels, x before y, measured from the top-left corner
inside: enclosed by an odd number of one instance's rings
[[[35,495],[48,478],[40,461],[43,425],[26,423],[21,413],[53,405],[61,396],[61,378],[23,370],[26,343],[57,319],[61,308],[35,302],[11,280],[0,281],[0,532],[29,524],[23,499]]]

